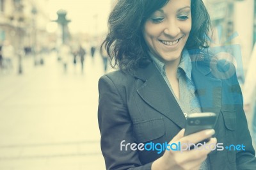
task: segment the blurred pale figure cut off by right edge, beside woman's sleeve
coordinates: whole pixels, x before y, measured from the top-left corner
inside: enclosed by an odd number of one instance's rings
[[[256,144],[256,43],[253,46],[252,55],[246,72],[246,78],[243,87],[244,111],[248,117],[252,118],[252,136]],[[254,106],[254,108],[253,108]],[[255,145],[256,146],[256,145]]]

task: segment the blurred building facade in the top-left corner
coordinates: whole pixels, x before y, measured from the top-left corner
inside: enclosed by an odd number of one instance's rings
[[[48,0],[0,0],[0,45],[10,42],[15,50],[47,44]]]

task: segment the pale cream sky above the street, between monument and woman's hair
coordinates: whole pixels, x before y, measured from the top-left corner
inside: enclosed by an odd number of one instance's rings
[[[48,9],[52,20],[57,19],[58,10],[67,11],[67,19],[72,20],[68,24],[71,33],[107,31],[110,0],[49,0]]]

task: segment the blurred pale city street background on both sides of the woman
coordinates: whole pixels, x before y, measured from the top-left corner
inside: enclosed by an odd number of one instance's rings
[[[99,48],[116,1],[0,0],[0,170],[105,169],[97,88],[113,69],[104,70]],[[252,130],[256,0],[204,3],[211,47],[242,58],[237,73]]]

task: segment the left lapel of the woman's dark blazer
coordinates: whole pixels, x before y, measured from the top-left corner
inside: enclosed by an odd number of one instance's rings
[[[150,63],[147,68],[140,69],[140,71],[136,73],[136,77],[145,81],[144,84],[137,89],[140,97],[148,105],[172,120],[180,128],[184,128],[186,118],[156,66]]]

